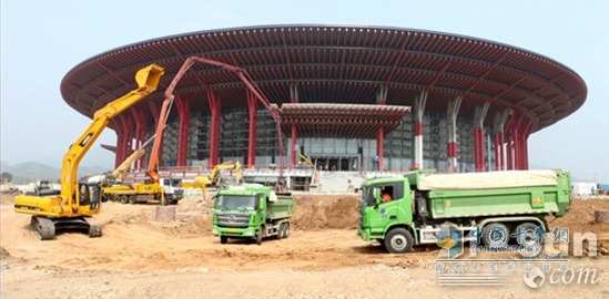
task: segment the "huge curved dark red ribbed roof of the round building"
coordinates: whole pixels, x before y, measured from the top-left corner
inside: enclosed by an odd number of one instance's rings
[[[184,33],[114,49],[73,68],[61,82],[65,102],[91,117],[109,101],[135,87],[135,71],[150,63],[165,68],[161,101],[183,61],[192,55],[241,66],[273,103],[288,103],[297,86],[300,103],[374,104],[382,86],[386,104],[414,105],[428,92],[427,110],[446,112],[463,95],[459,116],[490,102],[531,122],[532,132],[578,110],[587,96],[582,79],[544,55],[469,37],[400,28],[346,25],[267,25]],[[220,95],[223,109],[245,107],[245,87],[236,76],[196,64],[175,89],[193,109],[207,110],[205,91]],[[143,111],[149,112],[146,107]],[[487,117],[487,123],[491,123]]]

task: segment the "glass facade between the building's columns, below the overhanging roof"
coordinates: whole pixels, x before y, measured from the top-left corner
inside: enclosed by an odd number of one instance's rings
[[[474,128],[471,120],[457,120],[458,171],[474,171]],[[400,126],[386,134],[383,143],[384,169],[407,171],[414,164],[414,114],[403,118]],[[247,162],[248,115],[245,109],[223,111],[220,130],[220,163]],[[424,168],[448,171],[446,144],[448,142],[446,114],[426,112],[423,124]],[[190,121],[187,165],[206,166],[210,155],[211,117],[206,112],[193,112]],[[494,165],[493,127],[485,127],[485,153],[488,169]],[[179,120],[170,118],[163,134],[163,165],[176,165]],[[290,162],[291,138],[284,134],[286,164]],[[365,171],[378,169],[376,140],[297,137],[296,151],[308,157],[319,169]],[[258,166],[278,164],[278,142],[273,117],[258,111],[256,125],[256,157]],[[300,161],[297,157],[296,161]]]

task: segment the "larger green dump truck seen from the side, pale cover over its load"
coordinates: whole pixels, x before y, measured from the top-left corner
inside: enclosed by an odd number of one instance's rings
[[[393,254],[436,244],[446,223],[464,236],[479,237],[485,246],[506,246],[517,229],[527,231],[530,240],[538,227],[547,229],[545,216],[562,217],[569,210],[570,186],[569,173],[561,171],[415,171],[367,179],[362,184],[357,235],[379,241]],[[508,238],[495,237],[498,229]],[[471,234],[480,230],[479,236]]]

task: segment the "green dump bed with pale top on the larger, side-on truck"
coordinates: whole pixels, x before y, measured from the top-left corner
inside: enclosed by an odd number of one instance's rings
[[[428,193],[434,218],[550,214],[561,217],[571,205],[570,176],[560,171],[416,173],[409,179],[419,192]]]

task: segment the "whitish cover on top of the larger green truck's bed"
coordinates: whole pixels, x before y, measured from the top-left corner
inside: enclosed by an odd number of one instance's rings
[[[508,171],[464,174],[422,174],[419,189],[489,189],[506,187],[556,186],[554,171]]]

